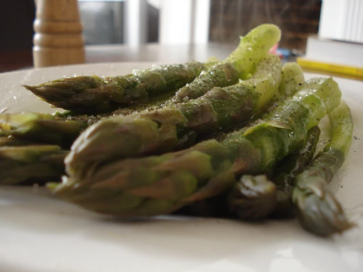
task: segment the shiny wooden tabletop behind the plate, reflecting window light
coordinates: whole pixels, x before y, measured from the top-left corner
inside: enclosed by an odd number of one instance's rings
[[[207,45],[160,45],[146,44],[139,47],[125,45],[99,45],[85,47],[85,62],[133,62],[150,61],[162,63],[206,61],[214,56],[224,59],[237,45],[210,43]],[[0,53],[0,72],[32,68],[31,51]]]

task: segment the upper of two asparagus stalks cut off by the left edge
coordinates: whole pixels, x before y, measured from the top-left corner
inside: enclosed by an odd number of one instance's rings
[[[99,120],[114,115],[128,115],[144,109],[158,109],[170,96],[172,96],[171,93],[163,94],[150,98],[144,103],[130,104],[127,108],[116,109],[111,113],[99,115],[73,116],[74,111],[63,113],[57,111],[54,114],[2,113],[0,114],[0,130],[2,137],[12,136],[20,141],[30,140],[32,143],[56,144],[68,149],[84,129]],[[15,139],[12,140],[13,143]],[[9,140],[7,141],[9,142]],[[4,142],[5,140],[2,140],[2,145]],[[12,144],[9,142],[9,145]]]

